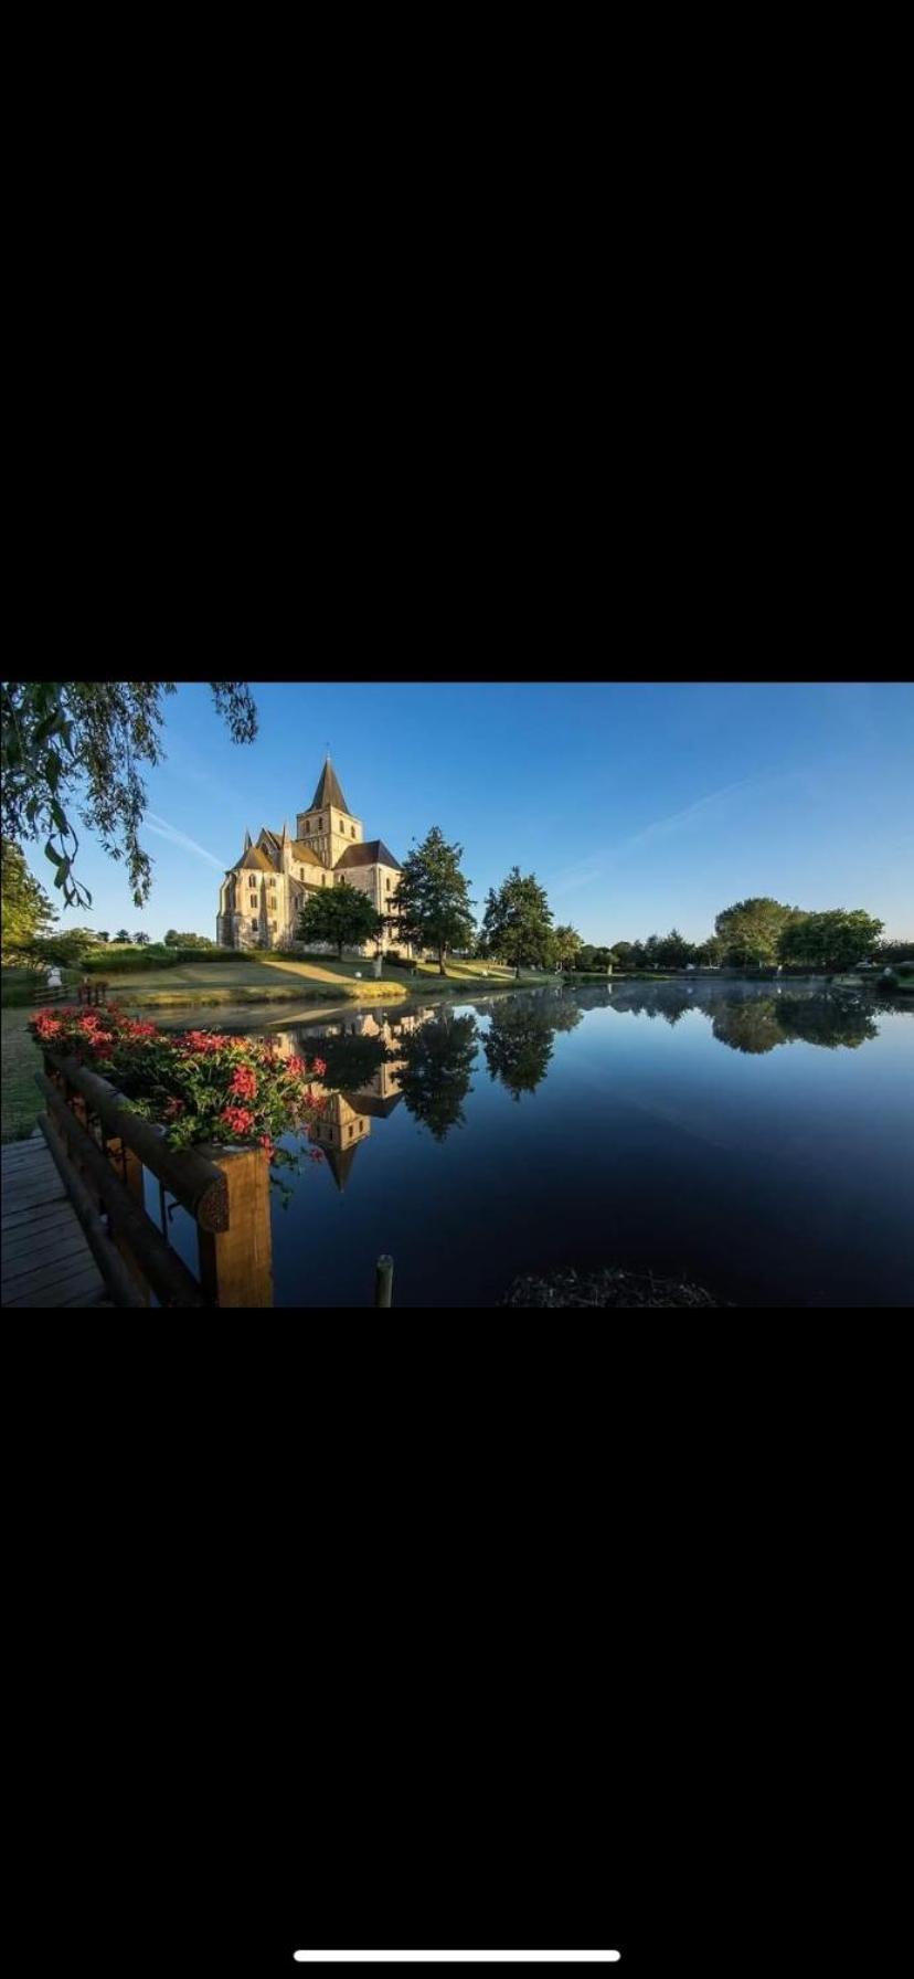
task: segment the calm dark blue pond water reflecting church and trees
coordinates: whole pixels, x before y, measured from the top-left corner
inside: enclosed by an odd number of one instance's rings
[[[273,1207],[277,1306],[495,1306],[518,1272],[686,1274],[740,1306],[914,1298],[914,1007],[821,982],[352,1011],[326,1160]]]

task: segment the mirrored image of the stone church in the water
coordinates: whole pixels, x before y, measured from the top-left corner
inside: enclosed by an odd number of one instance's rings
[[[291,1031],[275,1031],[273,1039],[285,1059],[293,1053],[303,1053],[307,1059],[320,1057],[320,1039],[332,1037],[368,1037],[388,1053],[396,1053],[398,1041],[411,1037],[433,1015],[433,1009],[415,1009],[390,1023],[388,1017],[378,1019],[372,1011],[360,1011],[340,1023],[322,1025],[319,1037],[293,1039]],[[386,1057],[370,1079],[346,1090],[324,1086],[319,1079],[309,1081],[313,1092],[326,1100],[326,1110],[315,1120],[309,1140],[320,1148],[338,1189],[346,1187],[356,1152],[372,1132],[372,1120],[388,1120],[400,1104],[404,1094],[398,1075],[404,1065],[404,1057]]]

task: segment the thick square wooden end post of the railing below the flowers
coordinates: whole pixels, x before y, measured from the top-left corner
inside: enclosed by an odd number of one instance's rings
[[[200,1231],[200,1282],[214,1306],[273,1304],[269,1162],[261,1148],[210,1148],[228,1181],[226,1231]]]

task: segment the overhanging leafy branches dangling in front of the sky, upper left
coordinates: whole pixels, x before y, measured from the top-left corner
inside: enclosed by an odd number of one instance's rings
[[[245,681],[210,681],[233,742],[253,742],[257,710]],[[133,902],[144,906],[152,861],[138,841],[146,815],[140,764],[162,762],[162,699],[176,681],[6,681],[0,685],[0,827],[46,839],[67,906],[89,906],[73,877],[73,809],[111,859],[127,859]]]

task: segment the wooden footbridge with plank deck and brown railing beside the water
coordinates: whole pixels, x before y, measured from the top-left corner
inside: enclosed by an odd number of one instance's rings
[[[107,1079],[44,1047],[32,1140],[2,1150],[4,1306],[271,1306],[269,1170],[257,1148],[174,1152]],[[146,1209],[158,1183],[160,1219]],[[196,1225],[170,1243],[166,1197]]]

